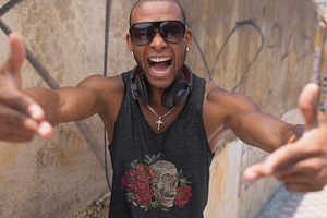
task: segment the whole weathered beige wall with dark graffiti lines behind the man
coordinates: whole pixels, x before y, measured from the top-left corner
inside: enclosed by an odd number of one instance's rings
[[[125,45],[134,2],[0,0],[0,60],[8,55],[7,34],[14,31],[28,50],[24,87],[74,86],[93,74],[128,71],[134,65]],[[311,78],[315,41],[312,1],[180,2],[193,31],[186,62],[194,73],[251,96],[265,112],[301,120],[296,99]],[[73,217],[108,197],[104,135],[94,117],[60,124],[48,141],[1,143],[0,217]],[[254,217],[263,208],[279,183],[246,184],[241,173],[266,156],[227,134],[211,165],[207,218]]]

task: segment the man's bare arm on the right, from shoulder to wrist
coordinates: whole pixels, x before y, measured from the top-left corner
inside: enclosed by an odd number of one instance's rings
[[[269,153],[303,133],[303,125],[292,125],[263,113],[247,96],[211,84],[206,88],[204,123],[211,152],[216,150],[217,141],[228,129],[244,143]]]

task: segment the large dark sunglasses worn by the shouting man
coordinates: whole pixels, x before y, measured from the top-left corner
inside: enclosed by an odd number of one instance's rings
[[[158,21],[135,23],[130,28],[133,44],[137,46],[147,45],[153,41],[156,32],[168,43],[179,43],[185,36],[185,24],[181,21]]]

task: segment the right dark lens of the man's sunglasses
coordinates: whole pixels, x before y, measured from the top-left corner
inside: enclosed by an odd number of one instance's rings
[[[185,25],[179,21],[167,21],[160,25],[162,37],[169,43],[179,43],[185,35]]]

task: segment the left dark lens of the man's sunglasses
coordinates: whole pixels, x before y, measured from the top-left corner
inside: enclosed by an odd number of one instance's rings
[[[136,45],[146,45],[153,40],[154,26],[150,23],[138,23],[131,27],[131,37]]]

